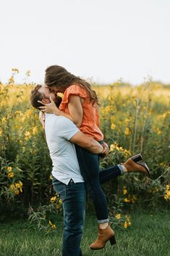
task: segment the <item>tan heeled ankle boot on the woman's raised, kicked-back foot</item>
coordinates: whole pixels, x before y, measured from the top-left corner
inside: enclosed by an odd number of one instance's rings
[[[131,158],[123,164],[127,168],[127,172],[141,172],[146,176],[150,176],[150,171],[145,162],[134,162]]]

